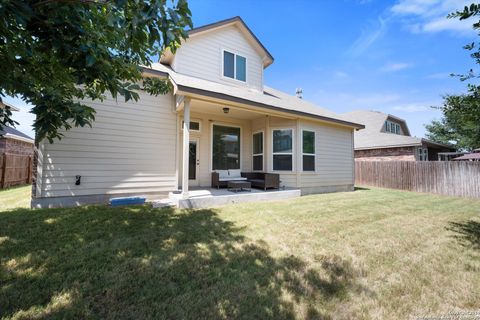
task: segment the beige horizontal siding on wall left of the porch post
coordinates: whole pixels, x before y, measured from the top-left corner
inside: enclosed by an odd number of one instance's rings
[[[93,128],[73,128],[41,143],[41,197],[167,193],[176,190],[176,114],[172,95],[141,94],[138,102],[88,103]],[[81,184],[75,185],[80,175]]]

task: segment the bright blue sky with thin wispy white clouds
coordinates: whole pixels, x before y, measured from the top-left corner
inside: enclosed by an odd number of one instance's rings
[[[471,2],[472,0],[470,0]],[[474,67],[462,47],[478,37],[473,20],[446,19],[462,0],[190,0],[194,27],[241,16],[275,58],[265,84],[337,113],[377,110],[423,137],[442,96],[465,92],[451,73]],[[20,99],[14,119],[33,136]],[[359,119],[358,121],[361,122]]]

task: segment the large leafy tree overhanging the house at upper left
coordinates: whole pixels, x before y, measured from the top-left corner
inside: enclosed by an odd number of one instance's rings
[[[83,99],[167,93],[169,83],[142,77],[141,66],[175,52],[187,27],[186,0],[0,0],[0,100],[34,105],[37,141],[53,142],[62,129],[92,125]],[[15,124],[8,109],[0,119],[0,128]]]

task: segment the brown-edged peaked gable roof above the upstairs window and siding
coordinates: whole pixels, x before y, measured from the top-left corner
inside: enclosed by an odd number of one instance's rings
[[[260,40],[255,36],[255,34],[250,30],[250,28],[247,26],[247,24],[240,18],[239,16],[221,20],[218,22],[210,23],[201,27],[193,28],[189,31],[188,37],[193,38],[197,35],[204,34],[206,32],[211,32],[220,28],[225,28],[229,26],[236,26],[240,31],[243,32],[243,34],[247,37],[247,40],[252,44],[252,46],[257,50],[257,52],[263,56],[263,67],[266,68],[269,65],[273,63],[273,56],[270,54],[270,52],[265,48],[265,46],[260,42]],[[188,39],[187,39],[188,40]],[[162,63],[170,63],[170,60],[173,58],[173,54],[170,51],[164,52],[164,54],[161,57],[161,62]]]

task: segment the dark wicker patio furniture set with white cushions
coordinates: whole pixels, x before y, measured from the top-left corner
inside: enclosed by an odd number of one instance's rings
[[[251,188],[267,190],[280,188],[280,175],[266,172],[241,172],[216,170],[212,172],[212,188],[228,188],[233,192],[250,191]]]

